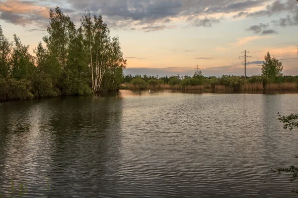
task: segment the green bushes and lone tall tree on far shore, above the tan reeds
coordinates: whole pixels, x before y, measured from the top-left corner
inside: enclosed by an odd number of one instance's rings
[[[235,90],[239,89],[245,83],[261,83],[263,85],[268,83],[298,83],[298,76],[284,76],[282,71],[282,62],[274,56],[271,57],[271,54],[268,52],[267,55],[265,55],[265,61],[262,65],[262,75],[247,77],[246,80],[244,76],[223,75],[222,77],[204,77],[200,71],[198,74],[195,73],[193,77],[176,75],[171,77],[165,76],[158,79],[157,77],[147,75],[127,75],[124,78],[124,83],[142,85],[141,87],[146,87],[147,84],[180,85],[181,87],[197,85],[211,85],[215,87],[216,85],[222,85]]]

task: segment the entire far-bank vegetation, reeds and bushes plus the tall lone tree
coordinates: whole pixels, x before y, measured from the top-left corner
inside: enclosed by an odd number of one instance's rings
[[[223,75],[222,77],[205,77],[201,71],[191,76],[171,76],[156,78],[154,76],[124,77],[124,88],[128,89],[230,89],[230,90],[297,90],[298,76],[284,76],[283,64],[269,51],[264,57],[262,75],[251,77]]]

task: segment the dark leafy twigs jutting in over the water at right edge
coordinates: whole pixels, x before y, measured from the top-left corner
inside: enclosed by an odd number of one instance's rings
[[[284,125],[284,129],[290,129],[292,131],[294,128],[298,127],[298,114],[294,115],[291,114],[289,116],[282,116],[280,113],[278,113],[279,120],[283,123],[286,123]],[[295,158],[298,158],[296,155]],[[290,168],[277,168],[277,169],[271,169],[272,172],[278,174],[281,174],[281,172],[286,172],[286,173],[293,173],[292,178],[290,178],[290,181],[293,182],[298,179],[298,167],[296,166],[290,166]],[[292,193],[298,194],[298,190],[293,189]]]

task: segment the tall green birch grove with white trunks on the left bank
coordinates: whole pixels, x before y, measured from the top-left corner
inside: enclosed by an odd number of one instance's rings
[[[50,9],[48,35],[33,51],[0,26],[0,100],[86,95],[117,90],[126,60],[102,15],[87,11],[76,28],[59,7]]]

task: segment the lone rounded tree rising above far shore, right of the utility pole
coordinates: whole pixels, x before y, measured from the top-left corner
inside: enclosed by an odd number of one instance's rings
[[[265,56],[265,62],[262,65],[262,74],[269,78],[275,78],[278,76],[282,76],[283,64],[274,56],[271,57],[269,51],[267,56]]]

